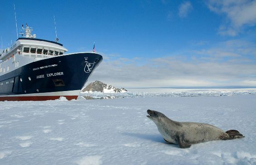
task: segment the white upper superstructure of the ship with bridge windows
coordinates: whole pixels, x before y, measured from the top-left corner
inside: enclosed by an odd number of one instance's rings
[[[22,25],[24,37],[18,38],[10,47],[0,52],[0,76],[25,64],[45,58],[51,58],[56,55],[63,55],[66,48],[62,44],[54,41],[36,39],[35,34],[31,34],[32,28],[26,24]]]

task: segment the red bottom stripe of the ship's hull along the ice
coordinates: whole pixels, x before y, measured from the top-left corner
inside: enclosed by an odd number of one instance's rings
[[[67,100],[77,99],[78,96],[64,96]],[[4,96],[0,97],[0,101],[46,101],[56,100],[60,96]]]

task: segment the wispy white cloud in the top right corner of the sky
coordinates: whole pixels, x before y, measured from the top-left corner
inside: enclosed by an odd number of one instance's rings
[[[219,27],[220,35],[237,36],[244,27],[256,24],[256,0],[208,0],[208,8],[227,17]]]

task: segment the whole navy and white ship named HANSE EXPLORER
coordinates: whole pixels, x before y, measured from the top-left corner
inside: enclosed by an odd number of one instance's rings
[[[77,99],[102,56],[68,53],[63,44],[36,38],[22,25],[20,37],[0,53],[0,101]]]

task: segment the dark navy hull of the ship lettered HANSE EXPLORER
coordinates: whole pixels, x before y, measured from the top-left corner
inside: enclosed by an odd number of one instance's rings
[[[0,76],[0,101],[77,99],[101,61],[96,53],[77,53],[26,64]]]

